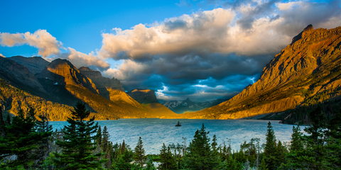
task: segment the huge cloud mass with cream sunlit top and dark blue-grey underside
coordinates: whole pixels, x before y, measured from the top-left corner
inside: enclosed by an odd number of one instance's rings
[[[225,8],[103,34],[102,57],[124,59],[104,75],[120,79],[126,90],[153,89],[163,100],[229,98],[257,81],[266,64],[308,24],[341,25],[340,1],[195,3]]]

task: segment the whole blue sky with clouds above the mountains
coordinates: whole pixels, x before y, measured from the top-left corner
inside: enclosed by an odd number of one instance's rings
[[[0,55],[70,60],[162,101],[232,98],[292,38],[341,26],[341,2],[0,1]]]

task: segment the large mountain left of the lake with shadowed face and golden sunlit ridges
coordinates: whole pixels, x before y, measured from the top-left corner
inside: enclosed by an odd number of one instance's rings
[[[176,115],[163,108],[142,106],[124,92],[117,79],[104,78],[97,71],[82,68],[85,76],[67,60],[53,60],[36,76],[27,67],[4,57],[0,59],[0,66],[0,105],[14,115],[18,109],[27,111],[32,106],[38,115],[47,115],[49,120],[66,120],[70,106],[75,106],[77,101],[86,103],[97,120]]]

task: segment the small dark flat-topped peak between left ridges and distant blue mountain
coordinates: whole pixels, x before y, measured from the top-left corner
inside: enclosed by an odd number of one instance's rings
[[[131,98],[134,98],[135,101],[141,104],[147,103],[158,103],[158,99],[156,99],[155,92],[149,89],[134,89],[132,91],[126,92]]]

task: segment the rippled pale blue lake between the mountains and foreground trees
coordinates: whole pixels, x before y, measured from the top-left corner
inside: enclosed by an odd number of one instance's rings
[[[175,127],[176,123],[182,124]],[[232,149],[239,149],[244,140],[251,140],[253,137],[259,137],[261,144],[265,143],[265,134],[269,120],[205,120],[205,119],[120,119],[120,120],[99,120],[102,130],[107,126],[111,141],[121,143],[123,140],[131,149],[136,147],[139,137],[142,137],[146,154],[158,154],[165,143],[182,144],[183,138],[187,138],[187,146],[193,140],[195,131],[202,127],[204,123],[206,131],[209,131],[209,137],[212,142],[213,135],[217,135],[218,145],[223,142],[231,142]],[[270,120],[274,127],[277,140],[289,142],[293,125],[279,124],[277,120]],[[53,129],[60,130],[66,121],[50,122]],[[304,127],[301,127],[303,129]]]

